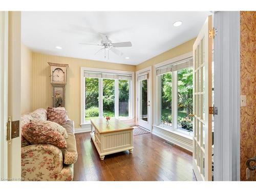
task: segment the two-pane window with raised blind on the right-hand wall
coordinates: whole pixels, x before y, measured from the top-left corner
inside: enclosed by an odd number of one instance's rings
[[[193,62],[191,58],[156,69],[160,126],[193,132]]]

